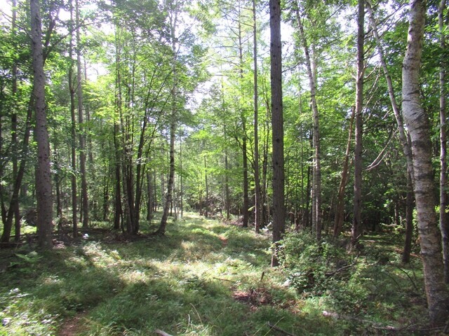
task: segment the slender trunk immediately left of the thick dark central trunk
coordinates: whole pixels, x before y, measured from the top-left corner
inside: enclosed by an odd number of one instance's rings
[[[255,232],[260,232],[262,222],[262,202],[260,193],[260,167],[259,167],[259,90],[257,87],[257,25],[255,16],[255,0],[253,0],[253,59],[254,59],[254,227]]]

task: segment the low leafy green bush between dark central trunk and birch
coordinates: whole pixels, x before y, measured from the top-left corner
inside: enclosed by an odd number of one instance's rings
[[[314,309],[318,305],[384,325],[422,323],[424,306],[418,302],[425,298],[419,260],[401,265],[401,255],[390,252],[396,240],[387,239],[366,237],[365,247],[354,254],[346,250],[344,241],[317,242],[307,232],[289,234],[279,249],[286,285]],[[348,328],[361,328],[353,322]]]

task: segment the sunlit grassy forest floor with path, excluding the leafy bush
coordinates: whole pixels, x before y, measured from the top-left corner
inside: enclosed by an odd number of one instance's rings
[[[398,327],[332,311],[269,267],[269,235],[194,214],[169,223],[164,237],[94,230],[68,245],[0,250],[0,335],[411,335],[403,315],[425,316],[422,288],[403,311],[380,307]],[[413,267],[404,281],[422,286],[420,263]]]

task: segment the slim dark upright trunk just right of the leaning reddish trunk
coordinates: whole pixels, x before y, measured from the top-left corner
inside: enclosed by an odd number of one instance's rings
[[[357,17],[357,73],[356,73],[356,144],[354,148],[354,218],[351,229],[351,246],[355,246],[362,234],[362,132],[363,132],[363,45],[365,1],[358,0]]]

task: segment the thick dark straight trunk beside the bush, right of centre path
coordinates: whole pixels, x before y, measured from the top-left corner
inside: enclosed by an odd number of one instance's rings
[[[273,242],[281,240],[286,226],[284,204],[283,167],[283,104],[282,104],[282,42],[281,1],[269,1],[270,63],[272,91],[272,146],[273,146]],[[272,255],[272,266],[279,265],[276,251]]]

